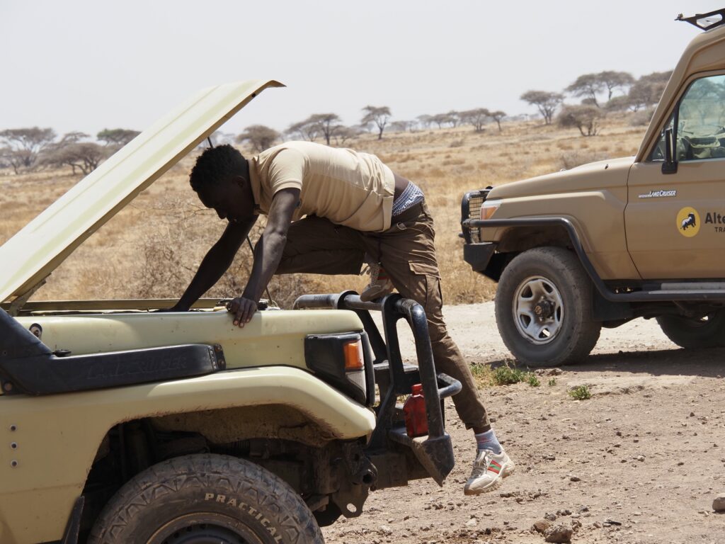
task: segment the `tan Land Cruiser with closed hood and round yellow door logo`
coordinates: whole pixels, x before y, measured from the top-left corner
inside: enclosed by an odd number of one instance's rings
[[[463,257],[498,281],[522,363],[583,359],[602,326],[656,318],[685,348],[725,346],[725,9],[671,75],[637,155],[463,197]]]

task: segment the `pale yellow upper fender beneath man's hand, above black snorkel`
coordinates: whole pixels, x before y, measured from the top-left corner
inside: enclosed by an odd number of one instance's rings
[[[363,330],[363,323],[354,312],[339,310],[260,311],[241,329],[233,325],[231,315],[225,311],[33,316],[20,317],[17,321],[26,329],[37,324],[45,345],[51,350],[70,350],[73,355],[180,344],[219,344],[224,350],[227,368],[278,365],[307,368],[307,335]]]

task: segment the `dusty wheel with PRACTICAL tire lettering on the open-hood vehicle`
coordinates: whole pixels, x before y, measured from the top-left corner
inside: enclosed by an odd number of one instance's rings
[[[323,544],[312,512],[262,467],[230,456],[164,461],[126,482],[88,544]]]

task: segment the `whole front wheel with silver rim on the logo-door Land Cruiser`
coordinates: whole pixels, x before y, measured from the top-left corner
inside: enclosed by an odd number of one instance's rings
[[[602,329],[592,320],[592,281],[563,247],[537,247],[514,257],[501,275],[495,308],[506,347],[529,366],[578,362]]]

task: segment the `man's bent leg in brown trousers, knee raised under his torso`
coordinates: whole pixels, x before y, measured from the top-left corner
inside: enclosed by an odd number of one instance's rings
[[[359,231],[310,215],[289,226],[278,274],[359,274],[365,247]]]

